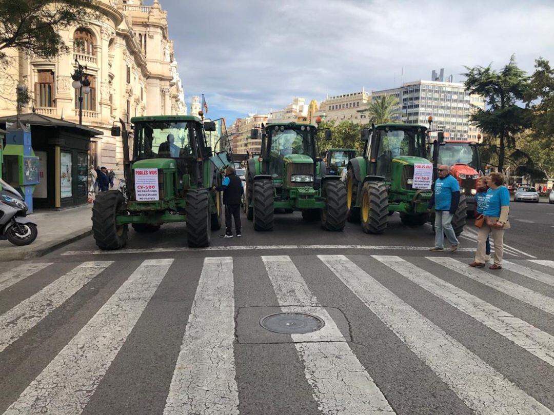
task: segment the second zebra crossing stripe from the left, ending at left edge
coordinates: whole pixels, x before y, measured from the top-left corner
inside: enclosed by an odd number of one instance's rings
[[[0,316],[0,352],[104,271],[111,261],[85,262]]]

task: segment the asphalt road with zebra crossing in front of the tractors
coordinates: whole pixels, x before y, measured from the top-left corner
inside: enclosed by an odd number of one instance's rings
[[[397,215],[366,235],[299,213],[208,249],[173,225],[3,263],[0,413],[552,414],[554,205],[511,213],[500,271],[467,267],[474,228],[433,254]],[[280,312],[319,329],[261,327]]]

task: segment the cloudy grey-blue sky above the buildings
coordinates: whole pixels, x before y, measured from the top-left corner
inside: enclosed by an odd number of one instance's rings
[[[232,122],[294,96],[393,88],[464,65],[554,60],[554,1],[160,0],[187,105]],[[151,4],[151,1],[145,1]],[[402,75],[403,74],[403,75]]]

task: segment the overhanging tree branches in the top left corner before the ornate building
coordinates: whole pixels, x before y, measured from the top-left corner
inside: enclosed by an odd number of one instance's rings
[[[6,67],[9,48],[43,59],[69,53],[60,30],[95,19],[98,6],[94,0],[0,0],[0,16],[0,67]]]

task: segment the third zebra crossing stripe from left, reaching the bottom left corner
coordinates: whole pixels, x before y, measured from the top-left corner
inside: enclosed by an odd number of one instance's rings
[[[172,262],[144,261],[4,415],[83,412]]]

